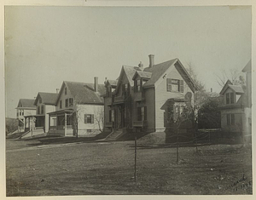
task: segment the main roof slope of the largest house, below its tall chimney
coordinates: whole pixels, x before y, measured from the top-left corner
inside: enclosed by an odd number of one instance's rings
[[[164,75],[166,70],[170,66],[172,66],[172,64],[174,64],[176,61],[177,61],[177,59],[168,60],[166,62],[145,68],[144,71],[151,72],[152,76],[148,80],[148,82],[145,83],[143,86],[147,87],[147,86],[154,85],[154,83],[156,83],[159,80],[159,78]]]

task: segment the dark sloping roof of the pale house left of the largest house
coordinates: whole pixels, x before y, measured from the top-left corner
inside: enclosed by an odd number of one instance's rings
[[[79,104],[103,104],[102,95],[106,89],[104,84],[98,84],[98,92],[94,91],[94,83],[79,83],[64,81],[74,100]]]

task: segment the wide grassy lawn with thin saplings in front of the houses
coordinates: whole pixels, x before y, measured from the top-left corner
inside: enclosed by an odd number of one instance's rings
[[[253,192],[251,146],[200,146],[197,153],[181,147],[177,163],[175,147],[140,145],[135,183],[133,141],[30,147],[21,141],[15,148],[16,142],[7,140],[7,196]]]

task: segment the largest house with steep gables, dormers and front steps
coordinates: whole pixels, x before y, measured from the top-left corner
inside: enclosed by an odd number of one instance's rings
[[[105,82],[105,129],[117,139],[131,131],[163,132],[194,100],[196,84],[180,60],[122,66],[118,80]]]

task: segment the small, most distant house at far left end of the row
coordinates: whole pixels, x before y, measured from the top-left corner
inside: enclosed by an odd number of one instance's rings
[[[25,123],[24,116],[27,115],[35,115],[36,114],[36,106],[34,106],[33,99],[20,99],[18,106],[16,107],[16,117],[19,120],[18,131],[25,131]]]

